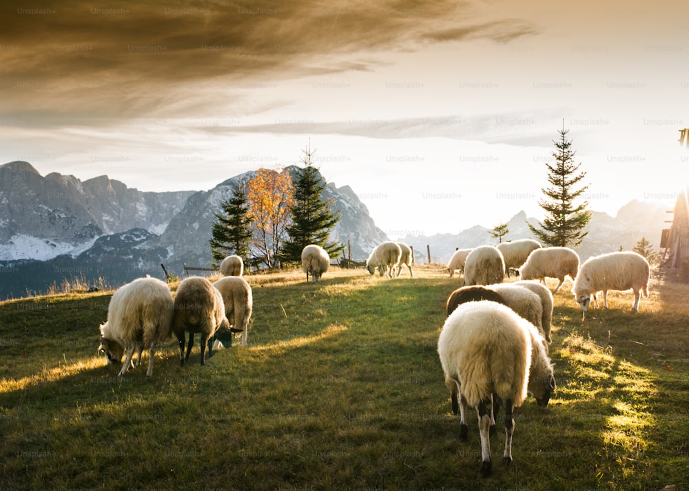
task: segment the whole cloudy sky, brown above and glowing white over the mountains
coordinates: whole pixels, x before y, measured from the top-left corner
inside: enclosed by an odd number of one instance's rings
[[[689,5],[513,3],[5,0],[0,163],[209,190],[310,145],[396,238],[544,218],[565,128],[591,210],[671,209]]]

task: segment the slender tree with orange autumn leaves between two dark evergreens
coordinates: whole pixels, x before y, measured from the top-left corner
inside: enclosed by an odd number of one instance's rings
[[[268,268],[276,268],[293,201],[291,175],[287,170],[258,169],[249,179],[246,192],[249,217],[254,226],[252,245]]]

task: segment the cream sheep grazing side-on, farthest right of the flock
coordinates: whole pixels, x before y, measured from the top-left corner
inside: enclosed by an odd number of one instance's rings
[[[636,252],[609,252],[586,259],[572,286],[575,300],[582,309],[582,320],[586,318],[591,295],[595,298],[596,292],[600,291],[603,292],[603,308],[608,308],[608,290],[631,288],[634,292],[632,312],[638,312],[641,292],[648,297],[649,278],[650,265]]]

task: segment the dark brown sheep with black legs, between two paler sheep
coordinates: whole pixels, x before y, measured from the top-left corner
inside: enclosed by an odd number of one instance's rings
[[[220,328],[229,329],[225,317],[223,296],[213,283],[202,277],[185,278],[174,297],[174,321],[172,331],[179,343],[180,364],[189,359],[194,344],[194,333],[200,333],[201,365],[205,365],[206,345]],[[187,355],[184,355],[185,332],[189,332]],[[208,346],[208,356],[213,356],[213,345]]]

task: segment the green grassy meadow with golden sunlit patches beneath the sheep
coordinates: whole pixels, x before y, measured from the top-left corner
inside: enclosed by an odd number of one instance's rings
[[[110,292],[0,303],[0,487],[99,489],[689,488],[689,287],[652,285],[582,323],[555,296],[548,408],[515,414],[514,465],[479,476],[475,412],[458,438],[435,350],[461,280],[332,270],[247,277],[249,347],[185,367],[170,339],[117,377],[96,353]],[[551,285],[552,287],[553,285]],[[499,423],[499,427],[502,426]]]

